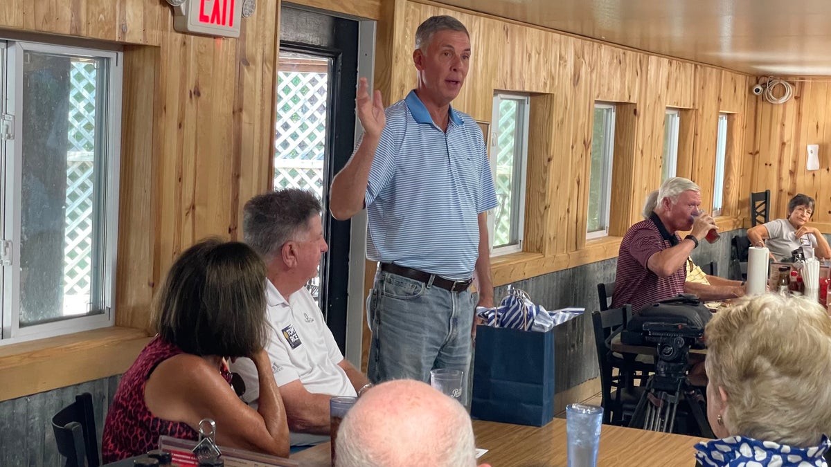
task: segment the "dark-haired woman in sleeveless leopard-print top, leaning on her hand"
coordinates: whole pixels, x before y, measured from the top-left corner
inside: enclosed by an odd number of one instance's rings
[[[106,416],[105,463],[158,447],[159,436],[199,437],[216,422],[219,445],[288,457],[288,424],[268,354],[265,266],[244,243],[207,239],[179,255],[155,297],[159,334],[121,378]],[[240,401],[228,360],[257,367],[259,406]]]

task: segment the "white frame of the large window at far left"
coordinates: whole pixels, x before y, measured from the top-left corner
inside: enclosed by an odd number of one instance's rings
[[[72,332],[81,332],[100,327],[112,326],[114,322],[113,307],[116,296],[116,247],[118,244],[118,195],[120,175],[120,138],[121,138],[121,96],[123,82],[123,54],[111,50],[93,48],[64,47],[39,42],[0,42],[5,44],[6,60],[9,64],[6,74],[0,76],[0,81],[7,82],[6,113],[14,118],[14,138],[0,141],[0,147],[5,146],[5,155],[2,162],[2,173],[11,177],[2,177],[2,235],[11,241],[11,265],[2,269],[2,328],[0,328],[0,346],[15,342],[24,342],[45,337],[54,337]],[[21,199],[22,199],[22,144],[25,138],[22,130],[22,66],[27,52],[51,53],[71,55],[73,57],[104,57],[109,59],[109,76],[107,93],[103,96],[106,104],[107,124],[101,128],[97,138],[104,140],[106,145],[96,145],[96,151],[105,157],[103,172],[97,175],[106,180],[102,185],[103,209],[101,215],[101,261],[97,264],[101,268],[101,293],[104,312],[92,316],[71,317],[55,322],[45,322],[27,327],[20,327],[20,238],[21,238]],[[2,96],[2,95],[0,95]],[[2,100],[2,99],[0,99]],[[106,133],[106,135],[104,135]]]

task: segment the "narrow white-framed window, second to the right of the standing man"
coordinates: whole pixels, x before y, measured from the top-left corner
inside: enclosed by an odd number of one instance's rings
[[[594,105],[592,169],[588,181],[586,238],[603,237],[609,232],[614,142],[615,106],[598,102]]]

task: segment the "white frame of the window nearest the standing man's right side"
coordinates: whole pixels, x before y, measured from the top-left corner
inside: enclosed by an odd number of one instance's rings
[[[525,186],[528,175],[528,130],[531,98],[527,95],[507,92],[494,94],[494,110],[489,126],[490,144],[488,145],[490,173],[494,178],[494,183],[497,170],[495,147],[496,141],[499,138],[497,134],[499,130],[499,102],[505,100],[516,101],[518,103],[516,122],[514,124],[514,170],[512,183],[514,189],[511,193],[511,232],[513,235],[511,235],[509,240],[510,243],[494,247],[496,216],[494,209],[491,209],[488,213],[488,238],[491,256],[521,252],[525,234]],[[488,135],[485,135],[485,137],[488,137]]]

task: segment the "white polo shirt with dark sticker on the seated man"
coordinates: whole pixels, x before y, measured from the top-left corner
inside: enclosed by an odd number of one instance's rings
[[[266,281],[266,298],[268,322],[273,327],[266,351],[277,385],[300,380],[312,394],[356,396],[346,371],[337,365],[343,360],[343,354],[312,294],[301,288],[287,302],[271,281]],[[245,381],[243,401],[256,406],[259,380],[253,361],[238,359],[231,365],[231,371],[239,373]],[[291,433],[293,446],[327,440],[329,437],[323,435]]]

